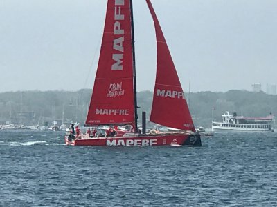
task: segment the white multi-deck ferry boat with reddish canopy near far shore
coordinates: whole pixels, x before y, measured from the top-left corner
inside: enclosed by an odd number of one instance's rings
[[[274,115],[267,117],[243,117],[232,115],[226,111],[222,115],[222,122],[212,121],[213,131],[235,130],[235,131],[274,131]]]

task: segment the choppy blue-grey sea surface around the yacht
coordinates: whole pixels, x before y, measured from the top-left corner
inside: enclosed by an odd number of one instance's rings
[[[277,206],[277,132],[82,147],[64,132],[1,130],[0,167],[0,206]]]

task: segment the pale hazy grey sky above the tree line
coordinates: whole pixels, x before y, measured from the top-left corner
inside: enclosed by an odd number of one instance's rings
[[[154,26],[134,1],[137,88],[153,90]],[[277,83],[276,0],[152,0],[183,89]],[[105,0],[0,0],[0,92],[92,88]]]

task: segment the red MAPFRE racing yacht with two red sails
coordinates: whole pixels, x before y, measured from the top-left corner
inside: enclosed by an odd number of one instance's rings
[[[73,146],[201,146],[184,91],[166,39],[152,7],[146,0],[157,39],[157,73],[150,121],[179,129],[178,132],[145,133],[138,129],[136,67],[132,0],[108,0],[105,28],[85,126],[134,126],[133,132],[115,132],[113,137],[80,135],[69,139]]]

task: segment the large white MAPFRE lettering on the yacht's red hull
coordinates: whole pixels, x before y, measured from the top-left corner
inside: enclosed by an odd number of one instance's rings
[[[157,139],[107,139],[107,146],[152,146]]]

